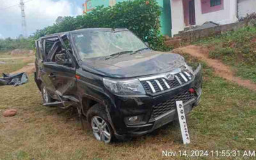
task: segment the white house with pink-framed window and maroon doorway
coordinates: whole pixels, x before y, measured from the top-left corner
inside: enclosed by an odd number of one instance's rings
[[[205,22],[230,24],[256,12],[256,0],[170,0],[172,35]]]

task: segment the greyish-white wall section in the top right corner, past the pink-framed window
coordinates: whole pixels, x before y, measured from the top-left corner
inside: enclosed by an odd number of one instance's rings
[[[256,0],[238,0],[238,18],[246,17],[247,13],[256,12]]]

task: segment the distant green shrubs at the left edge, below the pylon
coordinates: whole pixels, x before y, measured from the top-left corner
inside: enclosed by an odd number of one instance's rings
[[[6,38],[0,39],[0,52],[10,51],[13,49],[33,49],[35,41],[32,38]]]

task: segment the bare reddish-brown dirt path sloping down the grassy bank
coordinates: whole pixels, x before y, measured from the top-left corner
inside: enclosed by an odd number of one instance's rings
[[[194,56],[196,58],[199,58],[202,61],[205,61],[209,67],[212,67],[214,69],[214,72],[216,75],[223,77],[224,79],[227,79],[228,81],[232,81],[234,83],[237,83],[241,86],[244,86],[250,90],[256,91],[256,84],[252,83],[250,80],[241,79],[240,77],[234,76],[234,72],[222,63],[220,60],[214,60],[209,58],[209,50],[205,47],[200,47],[196,45],[188,45],[186,47],[180,47],[178,49],[174,49],[173,52],[184,52],[188,53],[191,56]]]

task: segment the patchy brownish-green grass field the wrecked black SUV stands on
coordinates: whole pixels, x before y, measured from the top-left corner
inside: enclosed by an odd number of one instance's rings
[[[163,150],[255,150],[255,140],[246,138],[256,138],[256,92],[203,67],[202,102],[187,118],[189,145],[182,144],[177,123],[106,145],[93,138],[89,127],[81,129],[75,113],[42,106],[32,75],[22,86],[0,86],[0,159],[165,159]],[[18,109],[17,115],[4,118],[8,108]]]

